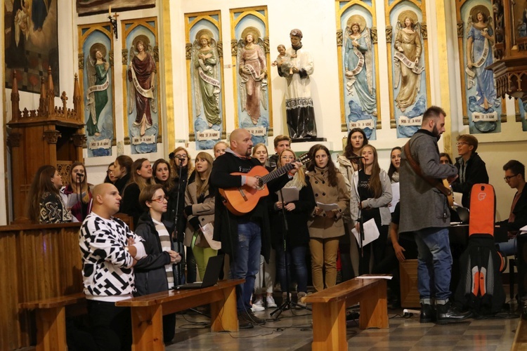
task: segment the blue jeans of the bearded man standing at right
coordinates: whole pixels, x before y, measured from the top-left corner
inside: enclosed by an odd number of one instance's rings
[[[417,244],[417,290],[421,299],[435,297],[446,302],[450,297],[452,254],[448,228],[424,228],[415,232]]]

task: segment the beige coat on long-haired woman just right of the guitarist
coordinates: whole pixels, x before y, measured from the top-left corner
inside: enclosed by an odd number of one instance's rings
[[[314,216],[308,221],[309,236],[312,238],[327,239],[344,235],[343,213],[349,207],[349,190],[344,176],[337,171],[337,187],[331,187],[327,179],[327,170],[315,167],[308,173],[315,201],[322,204],[337,204],[336,216],[327,218],[325,213]]]

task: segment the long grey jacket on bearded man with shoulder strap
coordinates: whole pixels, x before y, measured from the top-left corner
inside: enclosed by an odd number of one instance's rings
[[[439,163],[437,139],[432,133],[419,129],[410,139],[410,152],[424,176],[448,178],[457,174],[452,164]],[[429,227],[448,227],[450,211],[445,195],[418,176],[405,151],[401,153],[400,187],[401,220],[399,232],[414,232]]]

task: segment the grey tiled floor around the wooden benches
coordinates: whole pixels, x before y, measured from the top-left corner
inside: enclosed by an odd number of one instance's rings
[[[271,310],[256,312],[259,317]],[[390,329],[361,331],[348,322],[347,338],[353,350],[510,350],[519,322],[512,319],[468,319],[445,326],[420,324],[419,316],[401,317],[389,310]],[[238,333],[210,333],[208,319],[199,314],[178,314],[176,338],[167,350],[311,350],[311,312],[285,311],[277,322]]]

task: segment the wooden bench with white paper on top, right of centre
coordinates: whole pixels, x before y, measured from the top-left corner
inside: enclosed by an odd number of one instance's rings
[[[386,279],[355,278],[302,299],[313,304],[311,350],[348,350],[346,307],[360,303],[360,329],[387,329]]]

